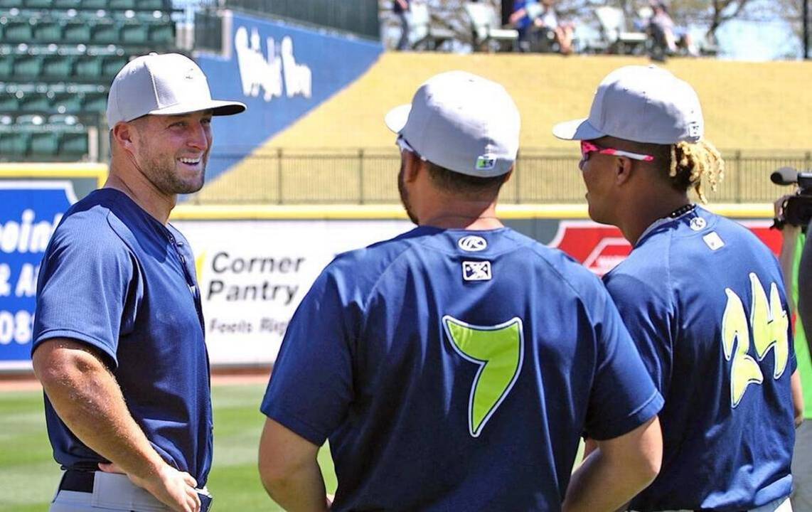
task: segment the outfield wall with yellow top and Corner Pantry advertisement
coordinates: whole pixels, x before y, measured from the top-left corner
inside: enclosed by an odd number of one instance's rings
[[[0,369],[30,369],[37,271],[59,219],[106,176],[103,166],[0,166]],[[771,206],[715,206],[774,252]],[[559,247],[597,274],[630,251],[616,228],[584,206],[504,206],[509,226]],[[266,365],[304,294],[343,251],[412,228],[398,206],[179,206],[172,223],[197,255],[206,339],[214,366]]]

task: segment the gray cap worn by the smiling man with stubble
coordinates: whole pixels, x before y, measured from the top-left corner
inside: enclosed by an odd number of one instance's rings
[[[201,68],[181,54],[149,54],[128,62],[107,96],[107,126],[142,115],[178,115],[211,109],[214,115],[245,110],[240,102],[213,100]]]

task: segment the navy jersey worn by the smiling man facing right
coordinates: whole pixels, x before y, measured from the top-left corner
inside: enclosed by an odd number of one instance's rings
[[[202,320],[192,251],[175,228],[114,189],[71,206],[42,260],[32,351],[56,337],[96,348],[153,447],[201,486],[212,457]],[[63,467],[105,462],[47,397],[45,419]]]

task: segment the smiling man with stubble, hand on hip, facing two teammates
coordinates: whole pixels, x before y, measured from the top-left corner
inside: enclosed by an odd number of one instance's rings
[[[127,63],[110,87],[110,176],[71,206],[41,263],[32,359],[54,458],[50,510],[208,510],[209,362],[194,256],[171,224],[201,189],[213,100],[179,54]]]

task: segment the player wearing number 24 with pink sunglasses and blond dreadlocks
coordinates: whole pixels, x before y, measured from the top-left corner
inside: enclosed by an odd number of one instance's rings
[[[693,204],[721,179],[690,85],[629,66],[598,85],[581,141],[590,217],[629,257],[604,276],[665,397],[663,468],[630,510],[791,510],[797,381],[775,256],[747,228]]]

